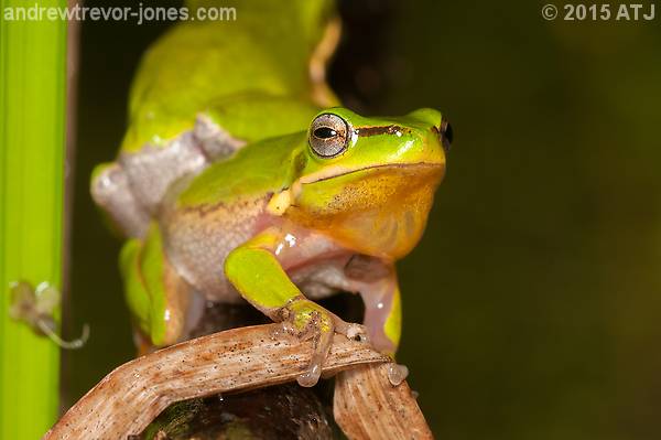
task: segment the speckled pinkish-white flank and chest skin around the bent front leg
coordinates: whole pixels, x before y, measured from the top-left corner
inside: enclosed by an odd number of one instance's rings
[[[327,297],[349,282],[338,266],[338,257],[348,261],[350,253],[330,238],[283,222],[266,212],[268,197],[246,198],[231,205],[165,211],[161,228],[165,253],[177,272],[212,301],[240,302],[241,297],[227,281],[224,262],[227,255],[259,234],[277,226],[282,246],[274,249],[292,281],[305,287],[311,299]]]

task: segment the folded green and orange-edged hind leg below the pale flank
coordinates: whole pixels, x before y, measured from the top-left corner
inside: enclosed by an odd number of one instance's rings
[[[136,324],[153,345],[170,345],[182,335],[189,287],[163,253],[155,224],[145,239],[129,240],[120,260],[127,302]]]

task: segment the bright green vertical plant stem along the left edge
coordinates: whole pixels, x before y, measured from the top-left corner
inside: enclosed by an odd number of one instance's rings
[[[58,347],[9,318],[8,287],[61,287],[66,22],[9,21],[8,8],[35,2],[0,4],[0,439],[22,440],[58,409]]]

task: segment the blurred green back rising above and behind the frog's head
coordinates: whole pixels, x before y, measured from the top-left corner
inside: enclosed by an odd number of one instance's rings
[[[228,7],[217,0],[189,1],[195,9]],[[122,149],[159,144],[189,129],[196,114],[227,99],[286,97],[312,107],[311,55],[333,15],[330,0],[249,0],[236,6],[236,20],[186,21],[173,26],[144,55],[131,90]],[[307,111],[303,112],[307,118]],[[263,117],[283,118],[277,112]],[[235,119],[246,119],[240,115]],[[254,120],[254,119],[253,119]],[[246,131],[246,130],[245,130]],[[230,131],[231,132],[231,131]]]

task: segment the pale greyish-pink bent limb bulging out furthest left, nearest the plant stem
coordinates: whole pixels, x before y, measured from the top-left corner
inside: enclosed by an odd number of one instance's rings
[[[120,164],[102,163],[95,169],[91,196],[126,236],[144,236],[149,213],[136,200],[128,175]]]

